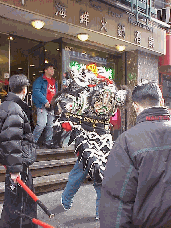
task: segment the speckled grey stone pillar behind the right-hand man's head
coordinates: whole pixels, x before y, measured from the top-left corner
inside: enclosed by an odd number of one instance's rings
[[[125,75],[125,59],[123,54],[123,74]],[[131,90],[135,85],[148,80],[159,82],[158,56],[139,50],[127,52],[127,86]],[[123,84],[125,82],[123,81]],[[136,122],[136,113],[132,101],[127,105],[127,129],[133,127]],[[122,111],[122,131],[124,131],[124,109]]]

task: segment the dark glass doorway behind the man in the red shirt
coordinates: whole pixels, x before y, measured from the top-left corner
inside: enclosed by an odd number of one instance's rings
[[[54,64],[54,78],[60,82],[61,53],[57,41],[40,42],[0,33],[0,99],[9,91],[8,78],[14,74],[28,77],[31,93],[33,82],[43,74],[47,62]]]

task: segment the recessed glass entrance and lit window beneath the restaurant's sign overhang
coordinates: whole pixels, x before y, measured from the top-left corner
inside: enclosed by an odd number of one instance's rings
[[[73,66],[79,67],[80,64],[83,64],[89,68],[102,67],[108,78],[115,79],[115,71],[118,71],[117,68],[119,64],[121,67],[122,63],[120,53],[109,54],[81,47],[78,44],[71,43],[71,41],[67,42],[66,39],[65,42],[62,39],[56,39],[53,42],[45,43],[0,33],[0,44],[1,81],[8,79],[9,75],[25,74],[28,76],[31,86],[35,79],[43,73],[43,66],[46,62],[54,64],[54,77],[60,86],[62,73],[72,69]]]

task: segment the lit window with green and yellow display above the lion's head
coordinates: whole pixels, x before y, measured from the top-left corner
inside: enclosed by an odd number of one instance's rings
[[[65,44],[62,49],[62,73],[64,75],[69,69],[79,71],[84,68],[96,76],[115,81],[118,78],[116,75],[118,60],[116,61],[115,57],[106,52]],[[122,60],[121,56],[118,56],[118,59]],[[65,82],[64,77],[63,82]]]

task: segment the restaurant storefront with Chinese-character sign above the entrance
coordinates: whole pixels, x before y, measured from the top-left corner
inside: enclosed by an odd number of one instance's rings
[[[33,20],[43,21],[44,27],[33,28]],[[80,33],[89,39],[78,40]],[[54,64],[59,89],[64,73],[82,65],[103,71],[118,87],[158,81],[158,56],[165,54],[165,44],[163,29],[136,23],[131,14],[100,1],[0,1],[0,96],[16,73],[28,76],[31,93],[45,62]]]

